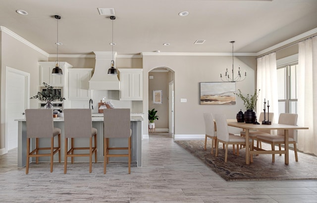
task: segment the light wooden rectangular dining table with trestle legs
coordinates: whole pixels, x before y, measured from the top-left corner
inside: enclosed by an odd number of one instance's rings
[[[278,124],[272,123],[271,125],[265,124],[253,124],[253,123],[242,123],[242,122],[228,122],[228,126],[237,127],[245,130],[246,135],[246,164],[250,164],[250,161],[253,162],[253,154],[285,154],[285,164],[289,163],[289,152],[288,152],[288,131],[289,130],[304,130],[308,129],[308,127],[300,127],[296,125],[285,125],[285,124]],[[285,136],[285,146],[284,150],[263,150],[259,148],[254,148],[253,143],[250,146],[250,138],[249,132],[250,130],[284,130]],[[247,147],[247,146],[250,146]],[[254,151],[256,149],[256,151]]]

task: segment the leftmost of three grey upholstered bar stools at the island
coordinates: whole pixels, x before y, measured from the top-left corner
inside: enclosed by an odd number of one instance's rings
[[[26,169],[25,174],[29,173],[30,157],[36,157],[36,164],[39,157],[51,157],[51,173],[53,172],[53,156],[58,152],[58,162],[60,162],[60,129],[54,128],[53,109],[26,109]],[[58,146],[54,147],[54,137],[57,136]],[[35,149],[30,152],[30,141],[35,138]],[[51,147],[39,147],[39,138],[51,138]],[[50,153],[39,153],[49,150]]]

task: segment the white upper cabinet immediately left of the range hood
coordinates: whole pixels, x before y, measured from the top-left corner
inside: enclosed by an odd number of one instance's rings
[[[68,71],[68,99],[90,99],[89,80],[92,68],[72,68]]]

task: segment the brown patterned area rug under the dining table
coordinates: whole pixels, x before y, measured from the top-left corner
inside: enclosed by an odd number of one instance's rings
[[[210,139],[209,139],[210,140]],[[214,172],[226,181],[238,180],[304,180],[317,179],[317,157],[298,152],[298,162],[295,161],[294,151],[289,151],[289,164],[284,163],[284,154],[275,154],[272,163],[271,154],[253,156],[253,163],[245,163],[245,149],[239,150],[239,156],[233,154],[232,145],[228,148],[228,160],[224,162],[224,150],[219,144],[218,156],[211,154],[211,141],[204,150],[204,140],[175,140],[175,142],[191,152]],[[263,148],[270,148],[269,145]]]

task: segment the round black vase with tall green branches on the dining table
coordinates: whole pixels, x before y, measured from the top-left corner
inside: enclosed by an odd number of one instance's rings
[[[257,105],[258,97],[260,90],[257,91],[257,89],[254,91],[253,95],[247,94],[247,96],[243,96],[241,93],[241,90],[238,89],[239,93],[235,93],[241,100],[243,101],[243,105],[246,107],[246,110],[244,112],[244,121],[246,123],[255,123],[257,119],[257,114],[254,111]]]

